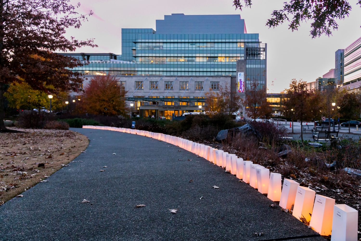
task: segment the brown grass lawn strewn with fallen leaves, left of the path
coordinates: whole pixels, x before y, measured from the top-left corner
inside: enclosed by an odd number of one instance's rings
[[[0,205],[74,160],[88,138],[71,130],[12,128],[0,133]]]

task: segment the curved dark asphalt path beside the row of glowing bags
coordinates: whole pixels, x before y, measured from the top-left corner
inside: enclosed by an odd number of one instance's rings
[[[134,134],[73,130],[91,139],[86,153],[0,206],[1,241],[324,240],[191,152]]]

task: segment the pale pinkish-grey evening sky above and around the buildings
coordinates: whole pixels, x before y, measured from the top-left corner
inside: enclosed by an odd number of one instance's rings
[[[361,36],[361,8],[356,0],[349,1],[353,9],[350,17],[339,20],[339,30],[330,37],[312,39],[309,23],[303,23],[299,31],[288,30],[287,23],[275,29],[265,26],[272,10],[280,9],[283,0],[253,0],[252,8],[235,10],[232,0],[77,0],[79,13],[90,9],[95,13],[88,17],[80,29],[69,29],[68,36],[77,39],[95,38],[98,48],[84,47],[77,52],[102,52],[121,54],[122,28],[153,28],[157,19],[171,13],[240,14],[248,33],[259,33],[260,41],[268,43],[268,92],[280,92],[288,87],[292,78],[307,82],[322,77],[335,68],[335,51],[345,48]],[[156,30],[156,29],[155,29]],[[273,85],[272,85],[273,82]]]

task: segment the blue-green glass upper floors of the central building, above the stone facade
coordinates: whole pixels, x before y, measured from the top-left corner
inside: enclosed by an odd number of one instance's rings
[[[247,33],[240,15],[166,15],[156,20],[156,30],[122,29],[121,55],[105,59],[104,54],[83,53],[86,65],[74,70],[88,75],[236,76],[245,46],[260,44],[258,34]],[[254,60],[250,66],[265,69],[265,61]]]

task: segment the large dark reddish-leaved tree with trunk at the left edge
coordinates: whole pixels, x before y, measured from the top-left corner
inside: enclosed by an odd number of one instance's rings
[[[3,121],[4,93],[11,83],[25,82],[48,94],[79,90],[83,78],[71,69],[80,61],[54,52],[96,45],[92,39],[65,38],[66,29],[79,28],[87,17],[75,12],[79,4],[69,2],[0,0],[0,132],[9,131]]]

